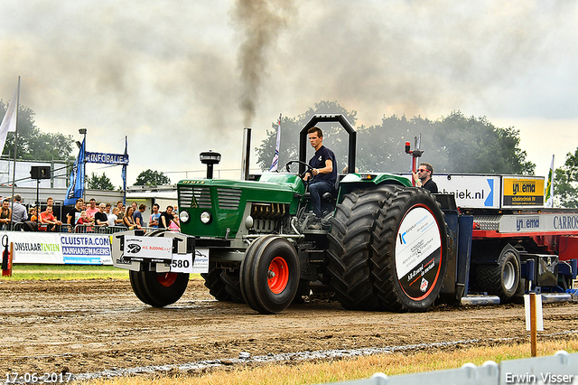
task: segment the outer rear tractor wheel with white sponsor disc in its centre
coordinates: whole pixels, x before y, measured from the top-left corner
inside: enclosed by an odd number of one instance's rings
[[[424,312],[443,286],[447,230],[430,192],[390,186],[372,234],[371,274],[387,310]]]

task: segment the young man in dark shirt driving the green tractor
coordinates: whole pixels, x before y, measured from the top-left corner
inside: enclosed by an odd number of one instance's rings
[[[312,170],[303,176],[308,181],[311,193],[311,205],[315,218],[309,225],[311,230],[322,230],[322,196],[325,192],[333,192],[337,180],[337,163],[335,154],[323,146],[323,133],[319,127],[311,127],[307,131],[309,143],[315,149],[315,155],[309,161]]]

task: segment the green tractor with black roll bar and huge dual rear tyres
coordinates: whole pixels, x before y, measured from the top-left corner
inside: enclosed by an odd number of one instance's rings
[[[347,119],[313,116],[300,134],[299,159],[284,172],[178,183],[182,234],[171,237],[192,239],[181,243],[208,258],[202,277],[212,296],[261,314],[284,311],[312,288],[333,292],[347,309],[426,311],[448,264],[440,204],[400,175],[340,174],[335,191],[323,196],[323,230],[309,230],[307,130],[321,122],[339,122],[348,132],[348,169],[356,170],[356,132]],[[144,302],[156,306],[178,300],[184,273],[137,263],[131,283],[139,298],[144,292]]]

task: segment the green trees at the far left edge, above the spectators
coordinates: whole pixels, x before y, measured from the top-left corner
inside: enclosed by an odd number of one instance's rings
[[[5,116],[6,105],[0,100],[0,115]],[[2,120],[0,117],[0,120]],[[72,152],[73,139],[70,135],[43,133],[34,125],[34,111],[31,108],[18,108],[18,143],[16,148],[17,159],[23,160],[68,160]],[[9,132],[2,154],[14,154],[14,132]]]

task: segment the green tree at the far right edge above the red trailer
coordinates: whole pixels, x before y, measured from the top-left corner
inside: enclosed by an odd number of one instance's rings
[[[564,165],[555,170],[554,200],[562,207],[578,207],[578,148],[566,154]]]

